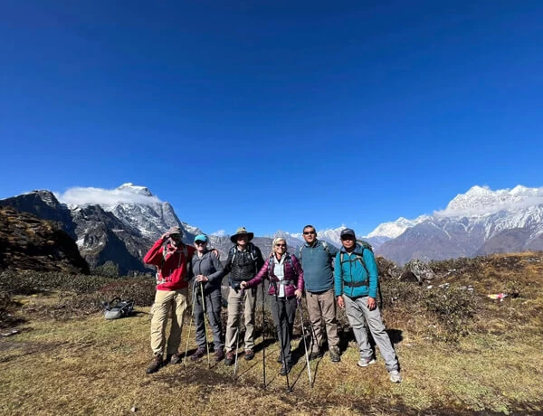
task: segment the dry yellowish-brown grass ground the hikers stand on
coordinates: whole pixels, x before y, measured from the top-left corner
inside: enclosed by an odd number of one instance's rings
[[[311,362],[312,388],[300,358],[290,374],[291,393],[279,375],[276,343],[265,350],[265,389],[262,350],[253,361],[240,361],[235,382],[233,367],[212,361],[208,369],[206,359],[147,375],[148,307],[114,321],[100,314],[59,321],[26,312],[21,333],[0,338],[0,413],[537,414],[543,411],[542,280],[540,254],[492,256],[472,275],[452,273],[446,281],[471,284],[481,298],[470,335],[455,344],[434,341],[439,323],[424,310],[388,307],[384,316],[397,341],[404,383],[388,381],[378,354],[376,365],[358,368],[351,341],[341,363],[331,363],[328,355]],[[517,282],[518,298],[486,297],[511,281]],[[40,310],[56,296],[20,298],[19,309]],[[189,351],[194,349],[191,339]]]

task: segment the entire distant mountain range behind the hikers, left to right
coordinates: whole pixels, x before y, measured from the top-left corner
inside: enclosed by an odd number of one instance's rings
[[[81,188],[81,193],[93,188]],[[176,216],[169,203],[160,202],[148,188],[122,184],[111,191],[109,201],[100,203],[61,203],[50,191],[33,191],[0,200],[24,213],[61,224],[77,241],[81,255],[97,267],[111,260],[119,270],[146,270],[141,259],[151,244],[167,229],[179,226],[192,242],[201,230]],[[68,198],[69,199],[69,198]],[[340,245],[337,229],[319,230],[319,239]],[[276,232],[255,237],[264,256],[271,252],[275,236],[285,237],[291,251],[303,244],[301,233]],[[543,250],[543,188],[516,186],[491,191],[473,186],[459,194],[441,212],[424,214],[414,220],[399,218],[379,224],[367,236],[376,254],[398,264],[413,259],[444,260],[473,257],[492,252]],[[232,246],[228,236],[210,236],[212,246],[225,259]]]

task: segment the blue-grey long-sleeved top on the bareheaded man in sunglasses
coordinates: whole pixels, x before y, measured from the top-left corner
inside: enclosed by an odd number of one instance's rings
[[[299,258],[303,269],[303,280],[306,290],[316,293],[334,288],[334,273],[332,261],[338,253],[333,245],[315,241],[313,245],[307,242],[301,246]]]

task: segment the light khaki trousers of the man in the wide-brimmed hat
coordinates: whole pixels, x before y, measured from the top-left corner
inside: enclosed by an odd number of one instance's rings
[[[226,352],[232,351],[235,345],[235,335],[238,331],[240,314],[245,318],[245,349],[254,348],[254,312],[256,308],[256,288],[242,291],[230,288],[228,294],[228,321],[226,323]],[[241,340],[240,340],[241,341]]]

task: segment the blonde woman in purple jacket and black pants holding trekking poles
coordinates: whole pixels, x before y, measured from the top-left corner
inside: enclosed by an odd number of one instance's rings
[[[287,375],[291,372],[292,326],[303,292],[303,270],[300,261],[287,252],[287,241],[282,237],[273,240],[270,258],[254,278],[241,283],[241,288],[257,286],[263,279],[270,280],[268,294],[271,296],[271,317],[281,344],[281,375]]]

